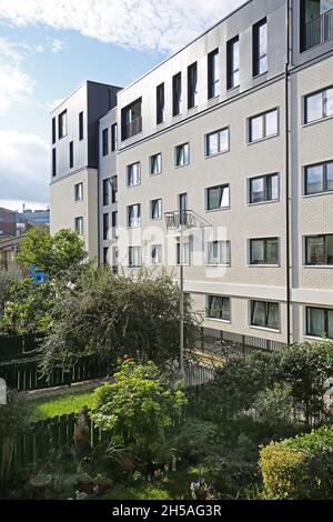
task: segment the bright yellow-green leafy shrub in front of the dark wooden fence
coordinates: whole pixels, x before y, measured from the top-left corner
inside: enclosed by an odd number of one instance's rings
[[[154,363],[142,365],[133,360],[123,362],[113,382],[99,388],[95,396],[94,425],[109,434],[111,443],[144,463],[154,462],[185,404],[182,391],[168,390],[162,383]]]

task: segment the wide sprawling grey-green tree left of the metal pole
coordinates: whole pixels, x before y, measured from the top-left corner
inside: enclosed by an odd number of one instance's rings
[[[54,309],[57,321],[42,345],[42,370],[70,368],[78,358],[129,353],[165,367],[179,357],[179,287],[167,273],[114,274],[90,267],[74,288],[65,287]],[[200,318],[184,308],[185,347],[194,348]]]

